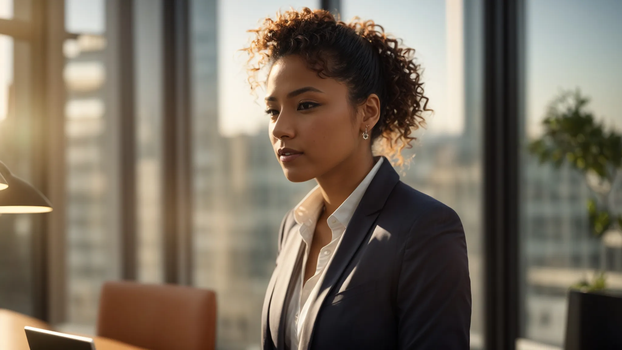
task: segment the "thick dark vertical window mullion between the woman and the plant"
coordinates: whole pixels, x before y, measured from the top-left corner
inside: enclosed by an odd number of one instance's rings
[[[519,335],[519,54],[522,0],[487,0],[484,14],[485,346]]]

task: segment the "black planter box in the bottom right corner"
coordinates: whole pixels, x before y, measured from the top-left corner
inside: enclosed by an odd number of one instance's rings
[[[622,349],[622,296],[570,291],[564,343],[565,350]]]

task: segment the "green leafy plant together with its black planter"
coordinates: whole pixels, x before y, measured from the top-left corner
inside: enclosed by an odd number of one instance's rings
[[[586,110],[580,90],[564,91],[549,105],[544,133],[529,143],[539,162],[570,166],[583,174],[590,189],[587,214],[591,234],[603,240],[622,235],[616,194],[622,177],[622,135],[605,130]],[[603,248],[604,249],[604,248]],[[570,286],[565,349],[622,349],[622,296],[606,288],[605,255],[592,280]]]

